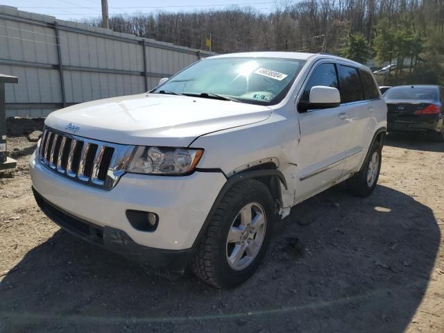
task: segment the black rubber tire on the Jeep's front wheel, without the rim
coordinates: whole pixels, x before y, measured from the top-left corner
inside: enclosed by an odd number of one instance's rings
[[[265,231],[262,246],[253,261],[241,270],[228,263],[227,237],[234,219],[249,203],[259,203],[265,212]],[[257,180],[247,179],[235,184],[223,197],[214,211],[205,236],[198,246],[191,270],[208,284],[227,289],[245,282],[264,259],[273,232],[274,203],[268,188]]]

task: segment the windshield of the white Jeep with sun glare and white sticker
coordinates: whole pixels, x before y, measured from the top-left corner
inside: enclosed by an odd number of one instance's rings
[[[244,103],[272,105],[284,99],[304,64],[305,60],[299,59],[204,59],[180,71],[152,92],[228,97]]]

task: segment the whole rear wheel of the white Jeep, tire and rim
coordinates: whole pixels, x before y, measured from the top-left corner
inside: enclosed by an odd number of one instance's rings
[[[376,187],[381,171],[382,147],[374,144],[364,161],[361,171],[346,180],[348,191],[355,196],[369,196]]]

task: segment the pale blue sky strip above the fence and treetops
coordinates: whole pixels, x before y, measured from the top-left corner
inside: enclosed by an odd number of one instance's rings
[[[134,12],[181,12],[192,10],[223,9],[238,5],[251,6],[262,12],[275,8],[277,0],[108,0],[109,15]],[[0,0],[1,5],[17,7],[26,12],[55,16],[58,19],[80,20],[101,16],[101,0]]]

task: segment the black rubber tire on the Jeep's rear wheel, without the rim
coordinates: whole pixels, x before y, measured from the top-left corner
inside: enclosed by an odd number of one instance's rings
[[[369,185],[367,181],[368,166],[370,164],[370,161],[372,160],[374,153],[377,153],[378,155],[377,173],[375,175],[375,180],[372,182],[371,185]],[[350,192],[350,194],[364,198],[366,196],[369,196],[373,192],[379,178],[379,171],[381,171],[381,160],[382,146],[375,142],[375,144],[373,144],[373,146],[370,148],[370,151],[368,153],[368,156],[366,157],[366,160],[364,161],[361,171],[355,173],[355,175],[345,181],[345,187],[347,188],[348,192]]]

